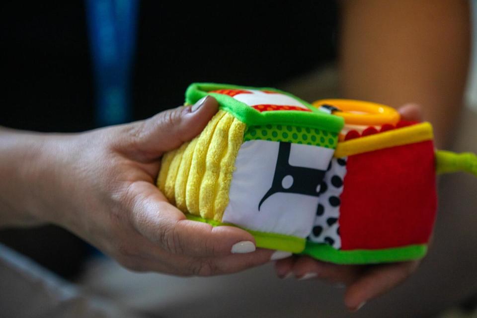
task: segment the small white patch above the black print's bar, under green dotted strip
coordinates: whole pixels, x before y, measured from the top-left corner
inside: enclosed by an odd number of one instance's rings
[[[319,153],[316,148],[319,148]],[[326,170],[333,153],[334,150],[329,148],[292,144],[288,163],[299,167]]]

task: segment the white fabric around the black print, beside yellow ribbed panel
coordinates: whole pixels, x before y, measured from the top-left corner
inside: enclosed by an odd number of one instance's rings
[[[292,149],[295,146],[309,148],[305,154],[311,158],[328,156],[327,149],[322,147],[292,144]],[[272,141],[253,140],[242,144],[222,222],[248,230],[306,238],[313,227],[318,197],[278,192],[267,198],[258,211],[260,200],[272,185],[278,149],[279,142]],[[313,160],[311,164],[306,160],[301,162],[316,166],[317,161]]]

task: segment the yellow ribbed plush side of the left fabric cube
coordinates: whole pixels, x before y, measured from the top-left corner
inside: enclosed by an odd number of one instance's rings
[[[220,110],[203,132],[165,154],[159,189],[185,213],[221,221],[246,125]]]

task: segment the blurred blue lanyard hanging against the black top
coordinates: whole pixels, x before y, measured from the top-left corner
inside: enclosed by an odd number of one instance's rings
[[[131,119],[137,11],[137,0],[86,0],[97,126]]]

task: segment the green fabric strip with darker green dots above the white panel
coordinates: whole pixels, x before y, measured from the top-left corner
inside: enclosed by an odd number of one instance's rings
[[[278,141],[334,149],[338,142],[338,134],[291,125],[248,126],[243,141],[250,140]]]

